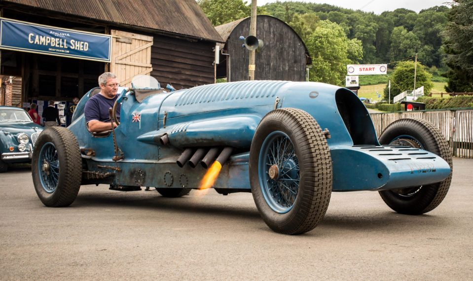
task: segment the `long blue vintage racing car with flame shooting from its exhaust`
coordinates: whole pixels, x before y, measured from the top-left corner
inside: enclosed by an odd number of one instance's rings
[[[67,129],[41,133],[32,170],[44,205],[69,206],[84,184],[152,186],[165,197],[213,187],[251,192],[271,229],[301,234],[323,219],[332,191],[379,191],[393,210],[422,214],[450,186],[451,153],[432,124],[401,119],[378,140],[367,109],[345,88],[241,81],[167,92],[153,79],[119,89],[112,132],[86,128],[83,108],[96,88]]]

